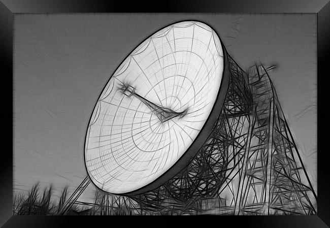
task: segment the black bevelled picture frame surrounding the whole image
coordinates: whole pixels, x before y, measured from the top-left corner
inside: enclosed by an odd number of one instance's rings
[[[154,2],[155,3],[155,2]],[[14,132],[13,102],[9,95],[13,87],[13,22],[14,15],[19,13],[114,13],[114,12],[169,12],[169,13],[314,13],[317,14],[317,215],[310,216],[222,216],[212,217],[205,223],[204,219],[196,219],[204,225],[231,226],[238,223],[244,227],[329,227],[330,226],[330,175],[327,146],[329,116],[328,112],[328,76],[330,53],[330,3],[328,0],[226,0],[226,1],[164,1],[161,4],[132,3],[124,1],[79,1],[79,0],[1,0],[0,2],[0,37],[1,37],[1,69],[2,69],[2,145],[10,141],[10,129]],[[158,7],[157,7],[158,6]],[[11,85],[11,86],[10,86]],[[9,108],[11,107],[11,109]],[[11,111],[10,111],[11,110]],[[10,128],[9,119],[13,124]],[[12,138],[14,143],[14,139]],[[121,218],[105,216],[13,216],[13,154],[7,148],[2,150],[0,175],[0,225],[2,227],[67,227],[93,224],[116,224],[114,220]],[[13,147],[11,148],[13,151]],[[140,220],[141,216],[135,216]],[[143,216],[142,216],[143,217]],[[131,220],[131,219],[129,219]],[[149,220],[149,218],[148,218]],[[162,219],[163,225],[170,220]],[[195,219],[190,219],[193,221]],[[204,220],[204,221],[203,221]],[[159,221],[158,221],[159,222]],[[117,223],[118,224],[118,223]],[[144,224],[146,224],[144,222]],[[148,225],[148,224],[146,224]],[[156,225],[156,224],[154,224]],[[112,225],[113,226],[113,225]]]

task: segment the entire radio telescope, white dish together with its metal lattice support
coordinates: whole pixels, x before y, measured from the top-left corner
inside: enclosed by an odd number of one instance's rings
[[[243,71],[202,22],[142,42],[108,81],[87,129],[86,170],[105,211],[316,214],[273,68]],[[67,209],[84,204],[89,178]]]

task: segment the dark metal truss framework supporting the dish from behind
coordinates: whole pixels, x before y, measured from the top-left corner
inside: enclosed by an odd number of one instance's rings
[[[102,193],[106,203],[97,205],[108,208],[103,214],[123,207],[129,214],[316,214],[316,193],[268,75],[274,67],[244,72],[228,59],[224,106],[202,149],[152,191],[130,197]]]

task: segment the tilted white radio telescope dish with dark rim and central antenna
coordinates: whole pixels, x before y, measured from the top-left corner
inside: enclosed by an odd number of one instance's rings
[[[135,48],[104,87],[92,112],[85,165],[92,182],[115,194],[152,190],[199,151],[228,86],[225,49],[208,25],[164,27]]]

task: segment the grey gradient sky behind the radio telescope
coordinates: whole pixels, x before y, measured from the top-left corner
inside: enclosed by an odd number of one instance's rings
[[[74,189],[86,176],[86,127],[105,83],[142,40],[187,19],[210,24],[244,70],[278,64],[270,76],[316,190],[315,14],[16,14],[14,191],[36,181]]]

